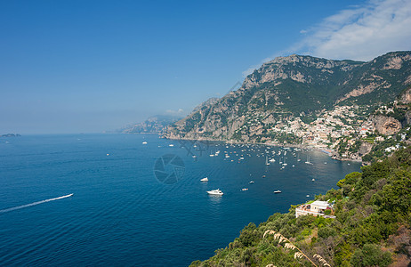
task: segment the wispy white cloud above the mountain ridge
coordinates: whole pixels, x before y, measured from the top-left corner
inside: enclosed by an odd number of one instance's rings
[[[306,31],[291,50],[329,59],[369,61],[411,50],[411,1],[370,1],[342,10]]]

